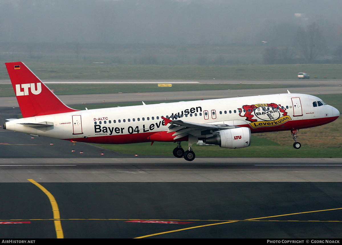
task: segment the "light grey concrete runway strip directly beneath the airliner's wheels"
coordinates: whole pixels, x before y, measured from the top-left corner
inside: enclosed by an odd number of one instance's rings
[[[4,183],[342,181],[341,158],[11,158],[0,169]]]

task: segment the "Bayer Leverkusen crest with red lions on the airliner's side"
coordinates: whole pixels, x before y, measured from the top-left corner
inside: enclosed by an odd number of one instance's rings
[[[250,121],[252,128],[277,126],[291,120],[287,115],[286,109],[274,103],[271,104],[255,104],[244,105],[239,109],[239,116],[246,117],[246,121]],[[245,114],[241,115],[242,109]]]

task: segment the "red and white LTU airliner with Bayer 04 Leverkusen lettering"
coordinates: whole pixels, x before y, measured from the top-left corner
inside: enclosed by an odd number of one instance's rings
[[[4,129],[102,144],[177,142],[173,155],[188,161],[195,159],[191,147],[198,140],[237,149],[249,146],[251,133],[260,132],[289,130],[299,149],[299,129],[340,116],[315,96],[290,92],[79,111],[66,106],[24,63],[6,63],[6,68],[23,118],[8,119]],[[183,141],[188,141],[185,152]]]

